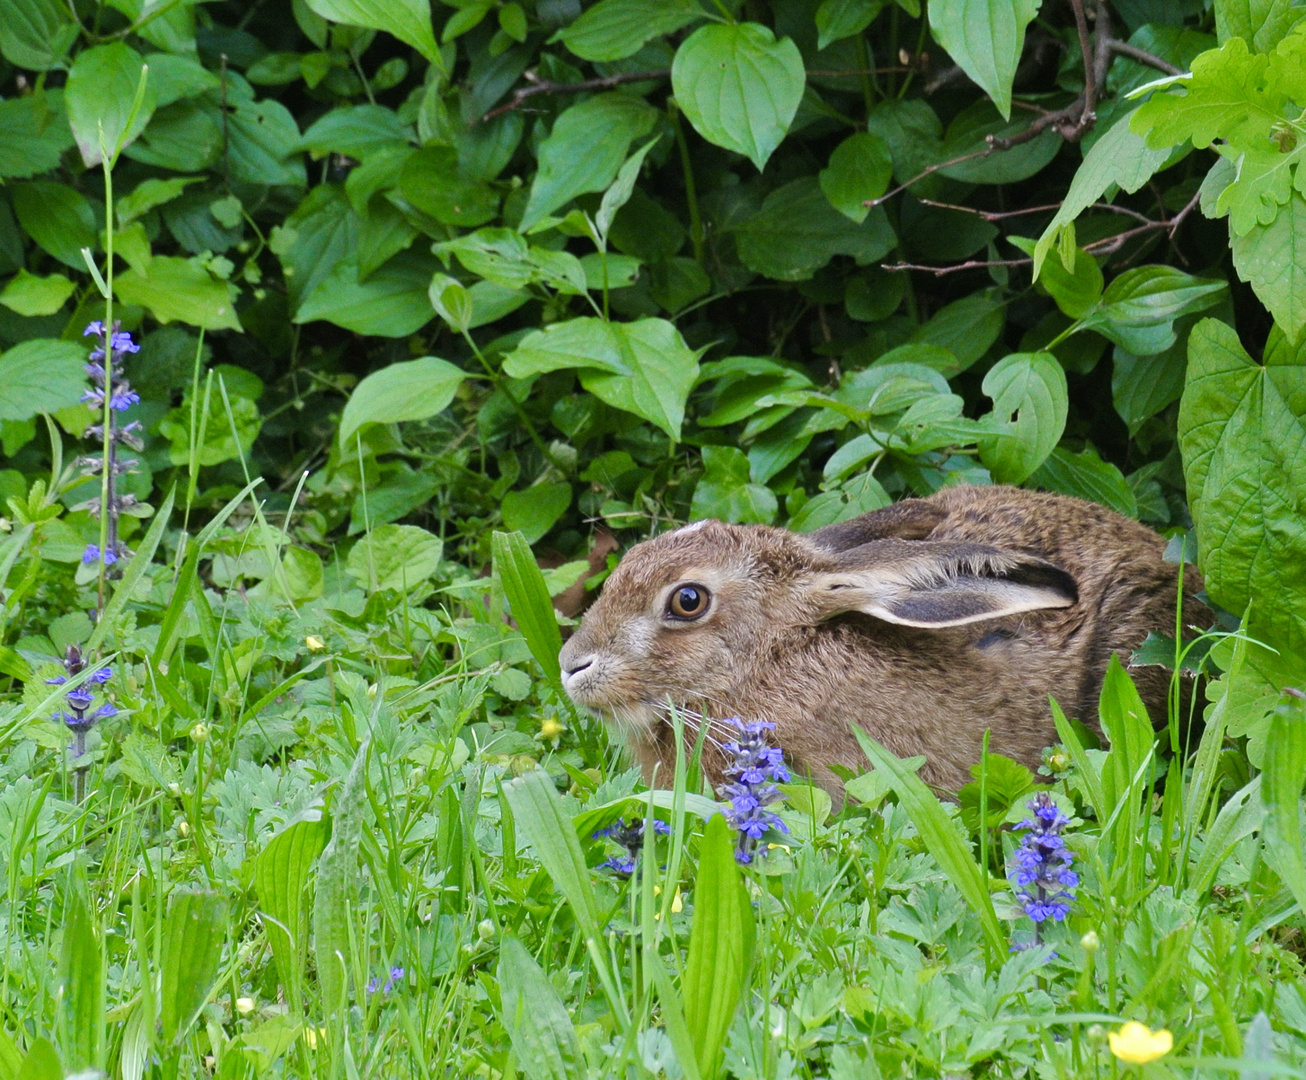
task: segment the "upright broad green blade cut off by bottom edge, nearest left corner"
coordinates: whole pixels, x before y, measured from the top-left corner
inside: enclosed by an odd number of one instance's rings
[[[104,1062],[104,948],[90,904],[81,889],[68,896],[59,960],[59,1049],[74,1071]]]

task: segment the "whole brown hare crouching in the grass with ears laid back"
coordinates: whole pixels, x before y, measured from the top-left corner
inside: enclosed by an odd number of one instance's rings
[[[957,790],[986,729],[991,750],[1037,765],[1057,740],[1049,695],[1096,725],[1111,653],[1127,662],[1149,631],[1174,633],[1164,548],[1096,504],[1008,487],[951,487],[807,535],[696,522],[627,554],[563,649],[564,679],[663,777],[670,700],[691,729],[773,721],[794,770],[836,791],[828,765],[866,765],[853,725]],[[1164,717],[1168,673],[1135,675]],[[710,740],[705,764],[716,778]]]

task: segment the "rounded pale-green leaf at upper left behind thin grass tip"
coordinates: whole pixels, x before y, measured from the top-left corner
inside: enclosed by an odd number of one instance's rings
[[[144,68],[141,55],[121,42],[97,44],[77,55],[64,99],[68,123],[88,168],[99,165],[101,137],[112,159],[150,121],[155,95],[148,77],[137,102]]]

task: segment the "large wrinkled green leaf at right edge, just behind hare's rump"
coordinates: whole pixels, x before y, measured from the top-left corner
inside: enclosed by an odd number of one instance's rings
[[[1204,319],[1188,337],[1179,404],[1179,449],[1207,592],[1242,611],[1272,597],[1258,618],[1279,643],[1306,652],[1306,343],[1276,326],[1263,363],[1224,323]]]

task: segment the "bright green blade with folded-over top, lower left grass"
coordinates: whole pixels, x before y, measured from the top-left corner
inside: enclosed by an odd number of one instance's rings
[[[303,1007],[308,952],[308,876],[329,832],[320,811],[306,811],[269,840],[255,859],[253,887],[264,932],[286,998],[296,1012]]]

